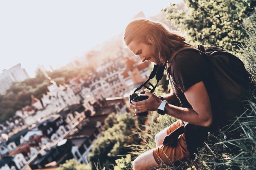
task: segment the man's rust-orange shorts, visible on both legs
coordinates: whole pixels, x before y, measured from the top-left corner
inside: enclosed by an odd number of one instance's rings
[[[167,134],[180,127],[183,123],[182,120],[177,120],[167,129]],[[175,161],[186,159],[189,157],[189,151],[186,148],[186,140],[184,134],[178,137],[177,146],[172,148],[171,146],[160,145],[153,150],[155,161],[161,164],[171,165]]]

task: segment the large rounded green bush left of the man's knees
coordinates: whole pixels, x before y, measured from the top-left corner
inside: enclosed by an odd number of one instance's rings
[[[115,160],[121,155],[126,155],[131,151],[126,147],[133,143],[139,143],[139,137],[134,132],[138,128],[138,121],[135,116],[130,113],[122,115],[110,114],[103,126],[102,136],[99,137],[92,148],[89,160],[92,170],[97,169],[94,163],[98,163],[100,167],[111,168],[115,164]],[[107,129],[108,128],[108,129]]]

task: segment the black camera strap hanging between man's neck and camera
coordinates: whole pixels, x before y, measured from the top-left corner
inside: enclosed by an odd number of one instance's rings
[[[158,82],[162,79],[162,77],[164,75],[165,65],[155,64],[154,68],[153,68],[153,71],[149,75],[148,80],[146,80],[145,83],[141,84],[137,89],[135,89],[135,91],[133,93],[137,92],[142,87],[145,87],[146,89],[150,90],[150,93],[153,93],[155,91],[155,88],[157,87]],[[152,83],[148,82],[154,77],[157,79],[157,84],[155,86]],[[147,83],[148,83],[148,85],[151,86],[151,88],[146,86]]]

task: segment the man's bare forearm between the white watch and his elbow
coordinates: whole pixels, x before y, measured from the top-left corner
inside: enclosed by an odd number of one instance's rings
[[[174,105],[166,105],[165,110],[166,114],[191,124],[205,127],[209,127],[211,125],[211,113],[200,116],[193,109],[177,107]]]

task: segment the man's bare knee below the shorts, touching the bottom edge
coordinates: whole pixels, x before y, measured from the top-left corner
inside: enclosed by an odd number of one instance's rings
[[[155,158],[153,156],[153,150],[148,150],[145,153],[139,155],[134,161],[133,161],[133,168],[135,170],[148,170],[150,168],[159,168],[159,165],[155,161]]]

